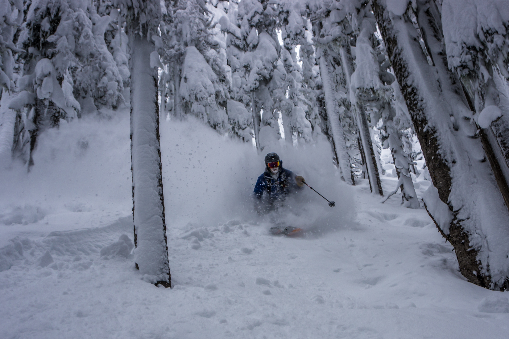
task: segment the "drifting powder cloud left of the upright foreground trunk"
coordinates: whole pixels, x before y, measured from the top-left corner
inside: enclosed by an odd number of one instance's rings
[[[131,215],[129,111],[112,116],[87,116],[42,132],[28,174],[19,162],[0,168],[0,186],[10,192],[0,194],[0,223],[46,218],[67,229],[78,221],[80,228],[100,226],[96,209],[107,211],[109,222]]]

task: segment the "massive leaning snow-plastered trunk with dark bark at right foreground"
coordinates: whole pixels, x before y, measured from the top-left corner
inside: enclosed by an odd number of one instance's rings
[[[458,81],[447,68],[441,41],[426,38],[434,65],[408,17],[389,14],[373,0],[378,26],[409,109],[434,187],[425,204],[440,233],[454,246],[461,273],[476,285],[507,287],[509,212],[482,143],[470,124]],[[419,22],[431,22],[424,12]],[[445,207],[445,210],[444,210]]]

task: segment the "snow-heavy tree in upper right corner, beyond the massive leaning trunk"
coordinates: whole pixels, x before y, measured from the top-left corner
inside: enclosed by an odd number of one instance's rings
[[[430,2],[447,62],[460,78],[499,187],[509,206],[509,11],[504,1]],[[440,22],[441,17],[441,22]],[[430,31],[425,34],[438,34]],[[502,187],[504,187],[502,189]]]

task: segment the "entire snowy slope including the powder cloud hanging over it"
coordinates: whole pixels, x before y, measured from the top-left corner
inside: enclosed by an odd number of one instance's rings
[[[325,141],[266,151],[336,207],[305,188],[260,217],[263,155],[194,120],[160,129],[173,289],[144,282],[130,254],[128,111],[83,118],[41,136],[29,174],[0,170],[0,337],[507,337],[509,293],[467,283],[425,210],[343,183]],[[273,236],[274,223],[308,232]]]

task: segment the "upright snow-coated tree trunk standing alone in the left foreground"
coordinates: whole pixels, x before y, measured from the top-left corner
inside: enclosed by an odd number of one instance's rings
[[[171,287],[159,146],[157,71],[150,67],[154,44],[130,36],[131,171],[134,260],[144,280]]]

